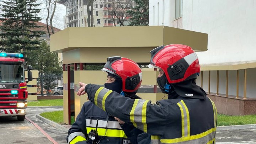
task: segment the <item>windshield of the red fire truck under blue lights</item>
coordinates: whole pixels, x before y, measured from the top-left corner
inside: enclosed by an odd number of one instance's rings
[[[21,83],[24,81],[24,64],[0,64],[1,83]]]

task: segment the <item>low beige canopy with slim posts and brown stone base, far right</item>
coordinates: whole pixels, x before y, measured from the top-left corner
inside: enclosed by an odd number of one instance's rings
[[[256,61],[202,64],[198,85],[228,115],[256,114]]]

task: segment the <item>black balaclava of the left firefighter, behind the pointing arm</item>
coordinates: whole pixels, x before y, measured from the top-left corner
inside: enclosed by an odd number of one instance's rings
[[[109,89],[109,90],[112,90],[112,91],[115,91],[115,92],[118,92],[120,94],[121,91],[122,91],[122,88],[123,88],[122,79],[119,76],[111,74],[111,73],[108,73],[107,76],[112,76],[116,80],[114,82],[111,82],[111,83],[105,83],[104,84],[105,88]]]

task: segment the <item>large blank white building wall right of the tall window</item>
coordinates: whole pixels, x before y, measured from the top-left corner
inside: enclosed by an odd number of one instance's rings
[[[183,29],[209,34],[200,63],[256,60],[255,0],[183,1]],[[210,59],[209,59],[210,57]]]

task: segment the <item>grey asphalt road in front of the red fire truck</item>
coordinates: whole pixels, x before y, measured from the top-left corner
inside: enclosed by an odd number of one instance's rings
[[[28,108],[28,117],[59,144],[66,144],[67,132],[63,132],[42,122],[36,115],[42,112],[58,111],[63,108]],[[1,144],[52,144],[50,140],[32,123],[17,121],[17,117],[0,117],[0,143]]]

